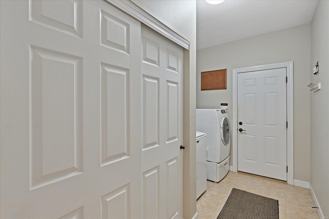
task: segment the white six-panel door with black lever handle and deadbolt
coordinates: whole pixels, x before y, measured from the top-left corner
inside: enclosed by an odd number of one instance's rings
[[[286,68],[237,74],[237,111],[237,169],[287,181]]]

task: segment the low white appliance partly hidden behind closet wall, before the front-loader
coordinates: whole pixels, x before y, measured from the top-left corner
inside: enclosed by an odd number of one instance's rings
[[[207,189],[207,135],[196,132],[196,199]]]

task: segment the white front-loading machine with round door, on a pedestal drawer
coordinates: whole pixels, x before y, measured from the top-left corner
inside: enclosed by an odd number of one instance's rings
[[[230,167],[231,129],[225,109],[197,109],[196,131],[207,134],[207,180],[220,182]]]

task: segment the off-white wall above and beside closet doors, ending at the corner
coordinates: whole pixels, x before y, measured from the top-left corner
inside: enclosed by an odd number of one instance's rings
[[[184,51],[184,218],[196,214],[195,63],[196,2],[132,0],[190,42]],[[177,146],[178,147],[178,146]]]

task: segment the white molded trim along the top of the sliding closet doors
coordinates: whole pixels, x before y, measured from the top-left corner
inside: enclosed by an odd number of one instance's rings
[[[106,1],[114,5],[115,7],[119,8],[126,14],[129,14],[130,16],[134,17],[135,19],[137,19],[137,21],[140,21],[141,23],[150,27],[151,29],[155,30],[161,35],[169,38],[171,41],[175,42],[179,46],[189,50],[190,47],[189,41],[187,41],[184,37],[174,32],[166,25],[162,24],[157,18],[153,17],[148,12],[139,8],[133,2],[122,1],[122,0],[106,0]]]

